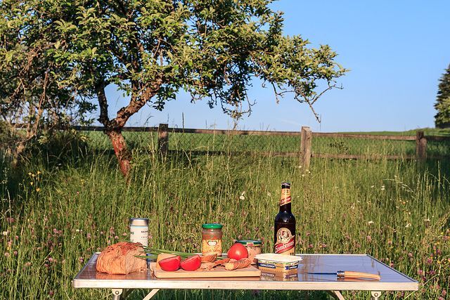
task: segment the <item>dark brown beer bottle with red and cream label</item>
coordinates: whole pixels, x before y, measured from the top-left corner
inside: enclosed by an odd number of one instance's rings
[[[295,217],[290,211],[290,183],[281,183],[280,211],[275,217],[274,253],[295,255]]]

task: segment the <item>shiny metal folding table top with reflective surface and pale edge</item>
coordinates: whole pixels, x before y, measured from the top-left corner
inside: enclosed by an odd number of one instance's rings
[[[416,291],[416,280],[400,273],[366,254],[297,254],[302,257],[297,273],[279,275],[262,273],[248,278],[186,278],[158,279],[151,270],[128,275],[109,275],[97,272],[94,253],[86,266],[72,280],[75,288],[113,289],[304,289],[304,290],[360,290],[360,291]],[[373,273],[380,280],[337,278],[335,275],[312,275],[348,270]]]

